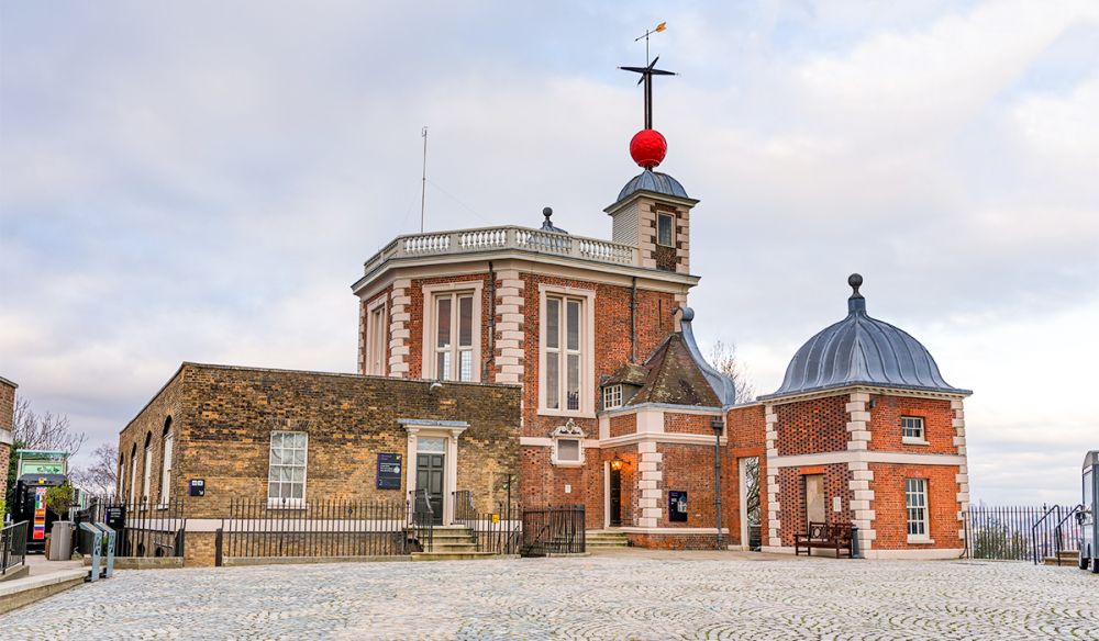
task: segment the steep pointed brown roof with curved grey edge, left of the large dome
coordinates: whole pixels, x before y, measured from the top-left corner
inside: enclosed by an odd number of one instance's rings
[[[680,331],[668,335],[642,364],[625,364],[606,384],[625,382],[641,390],[624,405],[660,403],[697,407],[723,407],[735,401],[732,379],[706,362],[695,342],[695,312],[684,308]],[[643,378],[642,378],[643,376]]]

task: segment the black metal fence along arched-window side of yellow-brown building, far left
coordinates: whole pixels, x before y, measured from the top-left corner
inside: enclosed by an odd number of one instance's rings
[[[96,496],[76,513],[77,522],[106,522],[118,532],[119,556],[182,556],[187,518],[182,498],[149,503]],[[78,530],[77,548],[90,553],[91,536]]]

